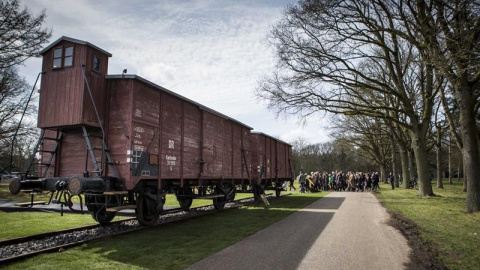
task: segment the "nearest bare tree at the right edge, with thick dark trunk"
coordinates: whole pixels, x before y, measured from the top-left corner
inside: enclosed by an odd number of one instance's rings
[[[402,17],[437,70],[451,84],[459,108],[459,131],[450,125],[462,149],[467,179],[466,210],[480,211],[480,3],[475,0],[407,1]],[[420,33],[420,35],[418,35]],[[441,92],[445,95],[445,92]],[[451,116],[446,112],[447,116]],[[449,123],[452,121],[449,120]]]

